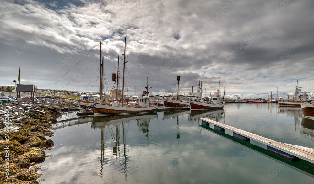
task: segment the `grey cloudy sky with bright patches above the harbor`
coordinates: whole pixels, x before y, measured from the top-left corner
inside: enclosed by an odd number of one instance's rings
[[[314,89],[314,1],[58,0],[0,3],[0,85],[99,92],[102,45],[107,88],[117,55],[127,83],[181,94],[199,80],[212,93]],[[89,53],[89,54],[88,54]],[[63,76],[63,77],[62,77]],[[222,84],[223,86],[223,84]],[[223,87],[222,87],[223,88]]]

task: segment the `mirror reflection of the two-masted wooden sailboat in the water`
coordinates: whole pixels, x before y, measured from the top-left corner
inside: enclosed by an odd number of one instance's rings
[[[112,146],[112,155],[115,158],[117,164],[122,164],[125,181],[127,182],[128,174],[128,155],[129,149],[127,140],[129,138],[130,130],[128,128],[128,123],[132,120],[136,120],[136,125],[138,131],[143,132],[149,141],[149,120],[151,118],[157,119],[157,113],[148,113],[143,115],[129,114],[129,115],[118,115],[118,116],[94,116],[91,127],[96,129],[100,128],[100,142],[101,142],[101,153],[100,153],[100,175],[103,175],[104,165],[108,164],[112,159],[108,153],[106,154],[106,149],[109,148],[108,141],[113,140],[114,146]],[[111,139],[108,136],[110,133]],[[121,153],[123,145],[123,152]],[[109,161],[109,162],[108,162]]]

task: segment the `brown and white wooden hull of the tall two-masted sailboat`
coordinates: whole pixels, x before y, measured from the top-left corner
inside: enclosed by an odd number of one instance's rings
[[[94,115],[143,114],[157,112],[158,109],[157,105],[150,107],[122,107],[92,103],[92,106]]]

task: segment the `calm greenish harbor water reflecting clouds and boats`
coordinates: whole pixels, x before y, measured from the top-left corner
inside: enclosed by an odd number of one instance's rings
[[[314,183],[313,164],[246,145],[202,125],[201,117],[314,148],[314,121],[278,104],[83,117],[56,124],[62,128],[51,137],[51,158],[41,163],[41,183]]]

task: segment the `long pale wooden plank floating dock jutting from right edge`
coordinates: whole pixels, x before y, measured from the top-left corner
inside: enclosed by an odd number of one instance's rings
[[[296,156],[300,159],[314,163],[314,149],[313,148],[307,148],[307,147],[303,147],[303,146],[277,142],[277,141],[267,139],[265,137],[262,137],[262,136],[259,136],[256,134],[252,134],[250,132],[246,132],[246,131],[241,130],[241,129],[231,127],[231,126],[226,125],[226,124],[222,124],[222,123],[213,121],[213,120],[208,119],[208,118],[200,118],[200,119],[202,122],[204,121],[204,122],[209,123],[209,125],[210,124],[216,125],[220,128],[227,129],[229,131],[232,131],[233,133],[240,134],[240,135],[242,135],[246,138],[249,138],[251,140],[257,141],[257,142],[262,143],[264,145],[270,146],[270,147],[275,148],[277,150],[280,150],[280,151],[283,151],[283,152],[288,153],[290,155]]]

